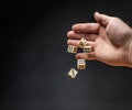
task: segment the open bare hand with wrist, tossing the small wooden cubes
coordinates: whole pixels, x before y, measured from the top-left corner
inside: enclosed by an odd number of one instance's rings
[[[77,23],[67,32],[67,44],[78,45],[86,37],[94,46],[90,54],[77,53],[76,58],[96,59],[111,66],[132,67],[132,30],[121,19],[95,12],[95,23]]]

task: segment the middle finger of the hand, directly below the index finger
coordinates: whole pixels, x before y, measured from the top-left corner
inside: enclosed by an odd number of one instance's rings
[[[76,33],[74,31],[69,31],[67,33],[67,37],[68,38],[77,38],[77,40],[85,37],[86,40],[89,40],[89,41],[96,41],[97,34],[85,34],[85,33]]]

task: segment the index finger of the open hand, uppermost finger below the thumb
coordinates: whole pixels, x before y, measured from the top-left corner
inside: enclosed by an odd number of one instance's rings
[[[72,30],[77,33],[98,33],[99,32],[98,23],[78,23],[72,26]]]

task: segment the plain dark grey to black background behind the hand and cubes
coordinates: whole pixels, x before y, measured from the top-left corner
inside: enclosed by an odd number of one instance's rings
[[[0,110],[132,110],[132,69],[76,59],[66,33],[99,11],[132,24],[131,0],[0,1]]]

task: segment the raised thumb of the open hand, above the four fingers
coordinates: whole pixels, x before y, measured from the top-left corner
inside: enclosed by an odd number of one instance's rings
[[[95,12],[95,19],[98,23],[100,23],[103,26],[107,26],[110,22],[110,16],[106,14],[100,14],[99,12]]]

